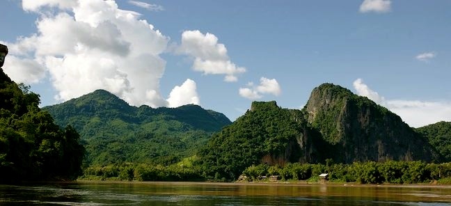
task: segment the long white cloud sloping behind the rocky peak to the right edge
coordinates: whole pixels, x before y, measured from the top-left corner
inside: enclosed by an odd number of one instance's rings
[[[385,106],[404,120],[411,127],[422,127],[439,121],[451,120],[451,102],[422,100],[386,100],[371,90],[362,79],[354,81],[358,95]]]

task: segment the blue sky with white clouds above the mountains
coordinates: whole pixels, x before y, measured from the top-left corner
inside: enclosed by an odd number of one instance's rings
[[[329,82],[413,127],[451,121],[451,1],[0,2],[3,70],[42,106],[97,88],[130,104],[300,109]],[[143,21],[145,20],[145,21]],[[150,26],[152,25],[152,26]]]

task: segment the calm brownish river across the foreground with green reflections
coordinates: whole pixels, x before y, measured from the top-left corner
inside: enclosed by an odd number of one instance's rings
[[[450,186],[68,182],[0,185],[0,205],[451,205]]]

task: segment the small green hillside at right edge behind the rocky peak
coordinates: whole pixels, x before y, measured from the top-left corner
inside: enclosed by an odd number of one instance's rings
[[[444,158],[443,161],[451,161],[451,122],[436,122],[415,130],[427,137],[429,143]]]

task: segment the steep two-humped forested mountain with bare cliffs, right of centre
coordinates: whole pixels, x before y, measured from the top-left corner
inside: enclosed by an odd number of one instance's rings
[[[313,89],[302,110],[253,102],[244,116],[212,136],[200,156],[210,176],[232,180],[261,163],[439,159],[427,138],[395,113],[333,84]]]

